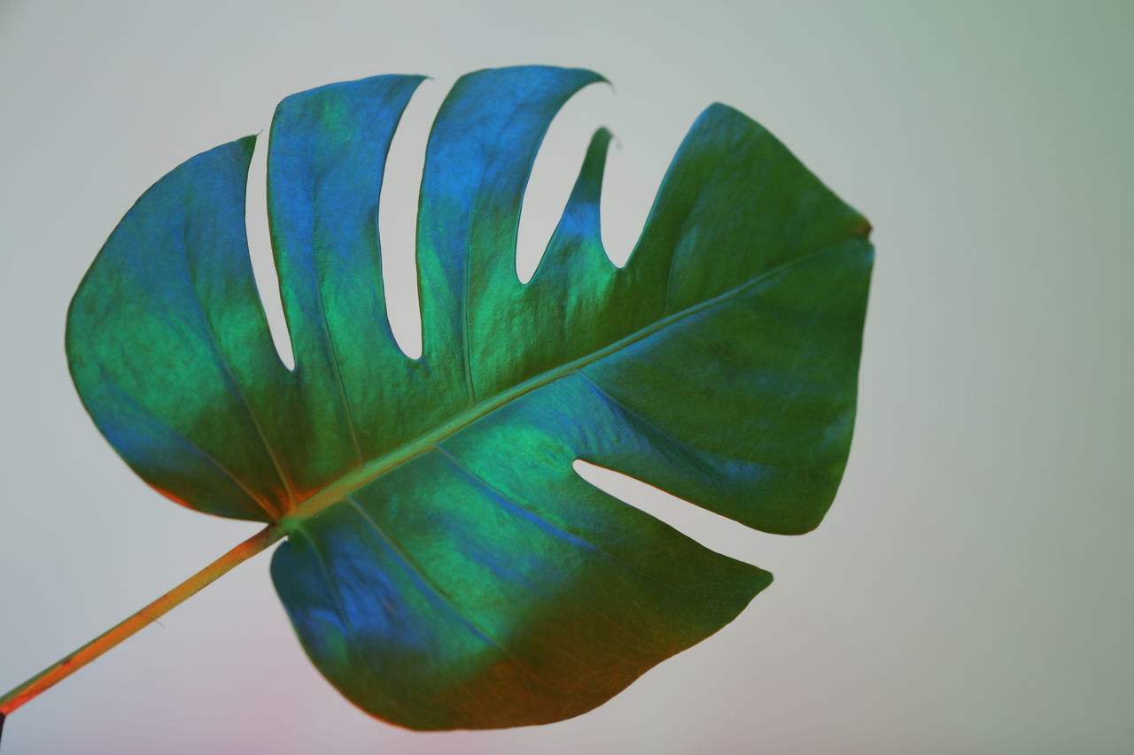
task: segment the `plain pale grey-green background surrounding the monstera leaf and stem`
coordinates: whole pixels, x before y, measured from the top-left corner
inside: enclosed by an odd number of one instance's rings
[[[623,144],[603,204],[621,258],[714,100],[861,209],[878,247],[855,446],[818,532],[748,532],[610,483],[777,580],[609,704],[494,732],[373,721],[303,655],[265,554],[17,711],[3,754],[1134,752],[1134,3],[909,5],[0,0],[0,688],[256,529],[129,473],[79,406],[62,333],[134,200],[265,128],[282,96],[437,77],[383,196],[411,343],[414,172],[431,110],[475,68],[584,66],[617,86],[549,135],[528,271],[593,127]],[[252,187],[262,211],[262,175]]]

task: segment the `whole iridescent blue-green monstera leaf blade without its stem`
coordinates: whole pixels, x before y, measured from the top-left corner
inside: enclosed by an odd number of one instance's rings
[[[869,226],[720,104],[682,144],[625,268],[595,133],[535,275],[524,188],[586,70],[459,79],[417,226],[423,354],[391,334],[386,154],[421,82],[284,100],[268,210],[294,370],[244,228],[254,137],[185,162],[116,228],[67,354],[107,440],[200,511],[278,523],[272,578],[320,671],[413,729],[583,713],[728,623],[771,577],[587,484],[576,459],[771,533],[815,527],[855,413]]]

